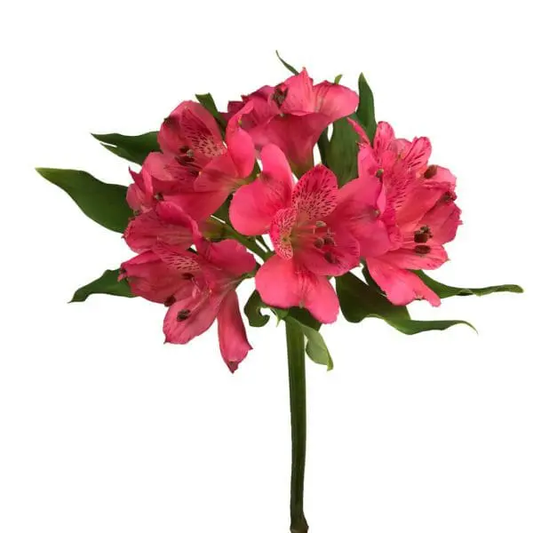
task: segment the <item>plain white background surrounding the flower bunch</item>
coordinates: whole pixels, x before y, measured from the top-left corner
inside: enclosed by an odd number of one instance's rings
[[[428,135],[459,179],[465,225],[436,277],[521,283],[418,318],[478,330],[405,337],[370,319],[324,328],[308,365],[312,533],[533,531],[527,3],[30,2],[0,8],[0,531],[288,530],[282,327],[250,330],[232,376],[216,330],[163,346],[163,307],[72,292],[131,256],[33,167],[127,184],[89,132],[156,129],[180,100],[223,107],[288,75],[360,71],[379,119]],[[243,287],[242,301],[251,287]]]

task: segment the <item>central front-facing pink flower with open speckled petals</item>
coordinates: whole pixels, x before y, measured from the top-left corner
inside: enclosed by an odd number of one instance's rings
[[[320,322],[335,322],[338,298],[326,276],[358,265],[365,250],[390,247],[386,226],[377,220],[381,184],[357,180],[338,189],[322,164],[294,184],[279,147],[261,151],[263,171],[241,187],[230,205],[230,219],[243,235],[268,233],[275,255],[259,268],[256,285],[271,306],[304,306]]]

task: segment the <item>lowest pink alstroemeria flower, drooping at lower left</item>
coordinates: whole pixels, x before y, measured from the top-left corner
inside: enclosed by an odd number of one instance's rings
[[[123,263],[123,277],[134,294],[169,307],[163,322],[167,342],[186,344],[217,319],[220,353],[234,372],[251,350],[235,289],[255,259],[232,240],[199,241],[196,247],[197,253],[156,243]]]

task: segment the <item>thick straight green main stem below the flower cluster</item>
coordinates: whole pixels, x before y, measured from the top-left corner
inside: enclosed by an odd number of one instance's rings
[[[307,533],[304,514],[306,471],[306,353],[304,334],[298,325],[285,322],[289,359],[290,429],[292,467],[290,472],[290,533]]]

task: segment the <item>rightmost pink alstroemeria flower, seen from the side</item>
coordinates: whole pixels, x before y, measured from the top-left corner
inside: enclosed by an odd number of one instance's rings
[[[429,139],[396,139],[388,123],[378,123],[370,145],[361,127],[353,125],[362,139],[360,176],[383,183],[385,211],[394,220],[394,247],[382,255],[367,255],[370,274],[395,305],[424,298],[439,306],[440,298],[410,271],[438,268],[448,260],[443,244],[455,238],[461,223],[456,179],[448,169],[428,165]]]

